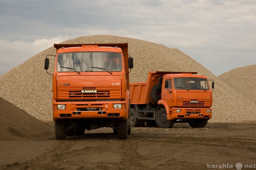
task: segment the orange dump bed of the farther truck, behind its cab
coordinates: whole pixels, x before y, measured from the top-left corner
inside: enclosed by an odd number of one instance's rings
[[[150,96],[150,91],[153,86],[158,84],[159,77],[163,77],[164,74],[180,74],[180,73],[192,73],[196,72],[160,72],[151,71],[148,72],[147,82],[130,83],[130,100],[131,104],[152,104],[154,103]]]

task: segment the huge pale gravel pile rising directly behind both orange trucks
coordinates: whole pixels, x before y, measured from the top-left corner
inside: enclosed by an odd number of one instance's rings
[[[149,71],[198,72],[215,81],[211,122],[256,121],[256,115],[252,114],[255,113],[255,102],[243,95],[248,89],[233,88],[228,82],[223,81],[224,76],[216,77],[178,49],[113,35],[83,36],[62,43],[128,43],[129,54],[134,61],[130,82],[147,81]],[[55,53],[54,47],[48,48],[1,75],[0,97],[39,120],[52,119],[52,76],[44,70],[44,58],[47,54]],[[54,58],[50,57],[48,72],[52,73],[53,67]],[[236,81],[239,81],[237,79]],[[245,84],[250,82],[251,80],[247,80]]]

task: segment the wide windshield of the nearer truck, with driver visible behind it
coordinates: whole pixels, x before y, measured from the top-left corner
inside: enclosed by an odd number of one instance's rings
[[[61,53],[61,54],[58,54],[57,71],[58,72],[121,71],[122,70],[121,63],[122,61],[121,61],[120,53],[112,53],[112,52]]]

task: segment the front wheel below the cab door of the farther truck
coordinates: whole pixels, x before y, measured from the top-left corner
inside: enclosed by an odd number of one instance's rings
[[[159,128],[172,128],[174,121],[167,120],[165,108],[161,108],[156,112],[156,124]]]

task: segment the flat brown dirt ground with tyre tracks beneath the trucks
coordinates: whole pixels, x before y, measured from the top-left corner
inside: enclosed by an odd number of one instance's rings
[[[100,128],[56,140],[53,121],[44,123],[52,133],[0,140],[0,169],[256,169],[256,124],[145,125],[127,140]]]

